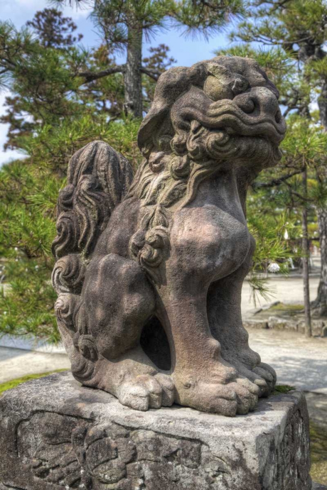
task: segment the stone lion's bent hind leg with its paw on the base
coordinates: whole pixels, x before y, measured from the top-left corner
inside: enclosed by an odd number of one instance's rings
[[[56,303],[75,378],[137,410],[172,405],[173,381],[139,345],[153,309],[152,288],[136,262],[116,254],[93,259],[81,297],[62,294]]]

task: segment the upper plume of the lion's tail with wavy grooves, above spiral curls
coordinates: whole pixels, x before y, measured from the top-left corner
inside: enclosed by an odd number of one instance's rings
[[[89,258],[132,177],[126,158],[103,141],[76,151],[57,203],[57,236],[52,244],[56,258],[69,253]]]

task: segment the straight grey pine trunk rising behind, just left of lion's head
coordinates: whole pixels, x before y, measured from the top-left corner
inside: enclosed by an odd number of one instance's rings
[[[142,26],[128,27],[124,110],[137,118],[142,117],[142,34]]]

